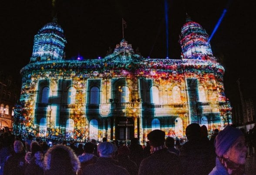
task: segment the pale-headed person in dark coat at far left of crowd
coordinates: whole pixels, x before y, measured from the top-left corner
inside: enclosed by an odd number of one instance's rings
[[[19,140],[16,140],[13,146],[15,153],[7,157],[6,164],[3,167],[3,174],[24,175],[26,169],[24,145]]]

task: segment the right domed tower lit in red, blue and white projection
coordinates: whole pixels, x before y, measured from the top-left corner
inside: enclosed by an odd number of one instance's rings
[[[216,60],[212,55],[209,35],[199,23],[187,16],[179,36],[182,59]]]

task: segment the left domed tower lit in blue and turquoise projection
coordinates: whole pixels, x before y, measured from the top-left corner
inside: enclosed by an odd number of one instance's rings
[[[30,62],[61,60],[67,43],[63,29],[56,18],[45,24],[34,37],[34,46]]]

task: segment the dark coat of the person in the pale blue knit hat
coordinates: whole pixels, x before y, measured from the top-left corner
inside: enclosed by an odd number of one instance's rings
[[[87,165],[82,171],[82,175],[128,175],[125,168],[117,165],[113,158],[99,157],[94,164]]]

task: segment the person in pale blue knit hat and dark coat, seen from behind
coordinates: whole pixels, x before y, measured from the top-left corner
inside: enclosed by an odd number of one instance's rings
[[[99,158],[94,164],[87,165],[82,175],[128,175],[125,168],[117,165],[113,158],[117,150],[111,142],[102,142],[98,145]]]

